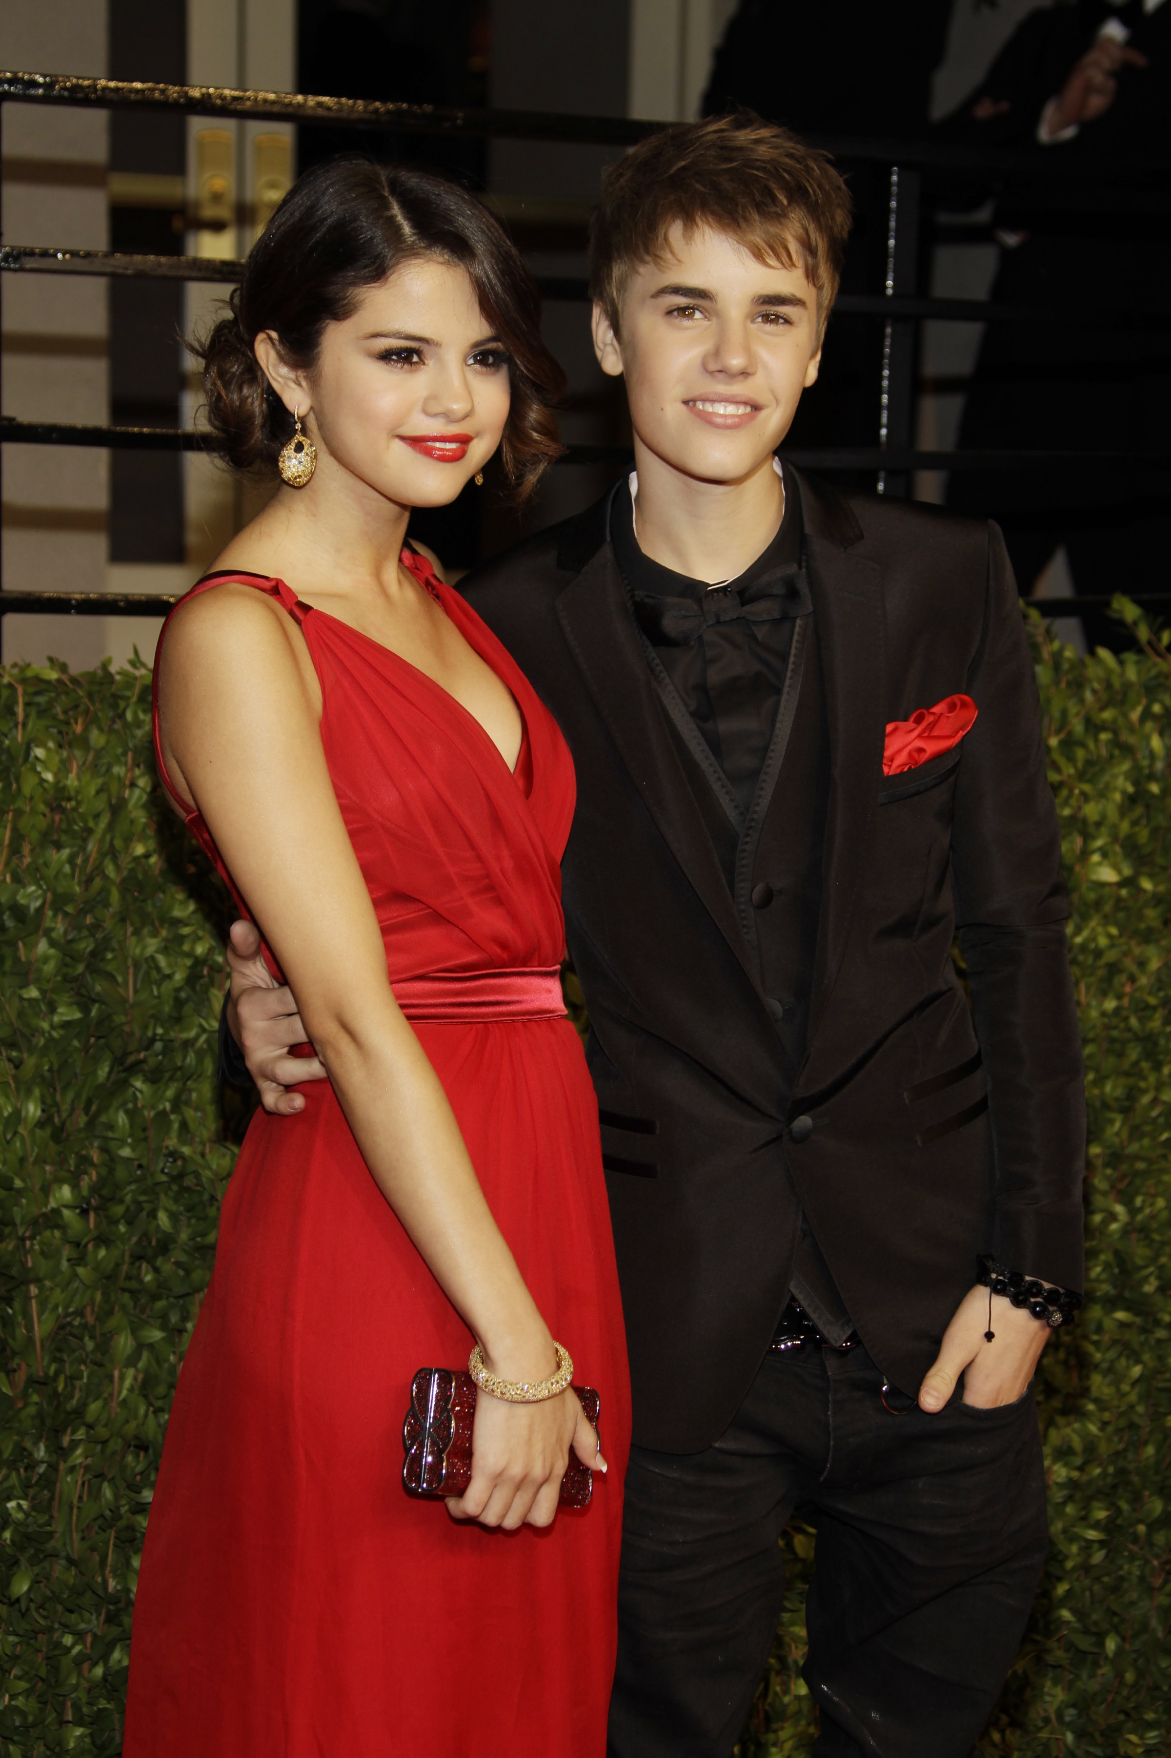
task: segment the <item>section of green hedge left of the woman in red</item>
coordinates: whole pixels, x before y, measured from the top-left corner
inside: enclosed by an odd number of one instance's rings
[[[160,809],[149,673],[14,666],[0,714],[0,1753],[116,1753],[151,1484],[234,1159],[223,955]]]

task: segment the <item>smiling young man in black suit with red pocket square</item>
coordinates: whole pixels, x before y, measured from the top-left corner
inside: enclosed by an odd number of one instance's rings
[[[775,462],[847,223],[753,116],[626,155],[594,343],[636,475],[468,584],[577,765],[635,1392],[612,1758],[728,1758],[796,1505],[819,1758],[967,1758],[1044,1554],[1029,1387],[1081,1283],[1057,814],[997,531]],[[292,997],[241,1000],[294,1106]]]

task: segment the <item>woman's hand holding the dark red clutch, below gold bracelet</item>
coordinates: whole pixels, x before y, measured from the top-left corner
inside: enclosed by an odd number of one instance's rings
[[[552,1526],[570,1449],[591,1471],[605,1471],[598,1435],[573,1389],[540,1405],[508,1405],[478,1392],[471,1431],[471,1482],[448,1496],[457,1521],[482,1526]]]

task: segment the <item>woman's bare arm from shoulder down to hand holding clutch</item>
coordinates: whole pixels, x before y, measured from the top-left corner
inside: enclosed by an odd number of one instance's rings
[[[543,1378],[556,1366],[549,1329],[484,1199],[443,1086],[394,1000],[318,716],[301,631],[253,587],[225,584],[174,619],[160,670],[172,781],[248,898],[371,1176],[436,1282],[494,1373]],[[570,1443],[598,1463],[577,1398],[478,1405],[484,1422],[478,1413],[461,1512],[489,1524],[545,1524]]]

